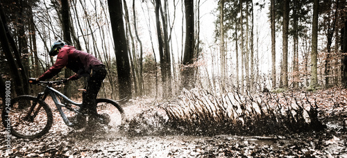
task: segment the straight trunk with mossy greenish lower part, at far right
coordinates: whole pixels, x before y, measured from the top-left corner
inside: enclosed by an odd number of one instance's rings
[[[318,6],[319,0],[313,1],[313,16],[312,16],[312,53],[311,53],[311,83],[310,87],[318,86],[317,78],[317,42],[318,42]]]

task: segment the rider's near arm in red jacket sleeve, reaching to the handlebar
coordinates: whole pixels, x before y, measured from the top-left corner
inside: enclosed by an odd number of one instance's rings
[[[54,64],[51,68],[49,68],[45,73],[40,76],[40,78],[37,78],[38,80],[46,80],[49,78],[53,78],[53,76],[56,76],[63,67],[67,65],[68,62],[68,54],[67,49],[60,49],[58,53],[58,57],[56,60],[56,64]]]

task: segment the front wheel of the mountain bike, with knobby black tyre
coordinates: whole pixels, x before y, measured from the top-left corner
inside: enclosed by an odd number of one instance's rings
[[[37,101],[35,109],[39,107],[38,105],[42,105],[39,113],[35,118],[31,118],[32,121],[25,120],[26,112],[35,101]],[[1,119],[7,133],[17,138],[34,139],[49,132],[53,123],[53,114],[49,105],[43,100],[37,100],[35,96],[23,95],[13,98],[9,107],[3,107]]]

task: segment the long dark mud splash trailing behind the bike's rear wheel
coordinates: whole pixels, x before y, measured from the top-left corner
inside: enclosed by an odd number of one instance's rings
[[[201,89],[185,90],[177,100],[159,103],[128,119],[121,129],[131,136],[261,135],[323,130],[317,103],[304,97],[243,97],[237,92],[214,96]]]

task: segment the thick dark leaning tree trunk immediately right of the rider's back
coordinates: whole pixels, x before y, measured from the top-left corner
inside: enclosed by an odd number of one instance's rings
[[[121,0],[108,0],[112,35],[115,42],[115,55],[117,60],[117,73],[119,82],[119,97],[131,98],[130,64],[128,58],[128,46],[124,32],[123,13]]]

